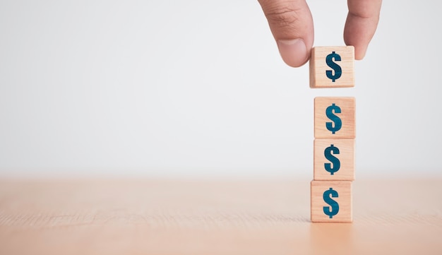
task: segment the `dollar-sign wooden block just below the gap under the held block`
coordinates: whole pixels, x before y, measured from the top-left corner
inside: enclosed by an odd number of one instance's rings
[[[314,102],[315,138],[347,138],[356,136],[354,97],[316,97]]]

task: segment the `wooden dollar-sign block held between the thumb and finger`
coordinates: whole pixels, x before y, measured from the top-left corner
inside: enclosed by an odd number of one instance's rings
[[[310,88],[354,87],[354,47],[313,47]]]

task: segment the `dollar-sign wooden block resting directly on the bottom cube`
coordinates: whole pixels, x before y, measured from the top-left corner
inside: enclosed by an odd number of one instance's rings
[[[354,180],[354,139],[315,139],[313,179],[316,181]]]

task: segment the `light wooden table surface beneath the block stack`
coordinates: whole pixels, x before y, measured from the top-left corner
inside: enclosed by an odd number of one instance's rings
[[[0,254],[442,254],[441,178],[359,179],[353,223],[309,179],[3,179]]]

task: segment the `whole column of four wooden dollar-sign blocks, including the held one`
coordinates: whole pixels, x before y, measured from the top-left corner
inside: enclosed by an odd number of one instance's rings
[[[314,47],[310,88],[354,86],[354,47]],[[354,97],[314,99],[311,221],[352,222]]]

